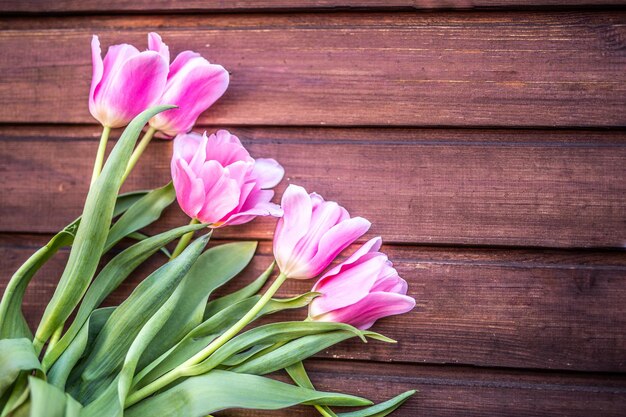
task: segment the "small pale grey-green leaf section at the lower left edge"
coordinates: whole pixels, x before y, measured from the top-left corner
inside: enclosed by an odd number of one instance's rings
[[[22,371],[41,371],[33,344],[26,338],[0,340],[0,396]]]

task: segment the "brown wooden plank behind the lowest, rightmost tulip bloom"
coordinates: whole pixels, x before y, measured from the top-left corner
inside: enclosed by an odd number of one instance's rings
[[[0,235],[0,270],[13,271],[45,236]],[[216,244],[217,242],[214,242]],[[353,250],[353,249],[352,249]],[[379,321],[374,330],[397,345],[349,341],[324,357],[377,362],[467,364],[579,371],[626,371],[626,253],[384,247],[409,282],[417,308]],[[54,291],[67,252],[35,278],[25,299],[36,325]],[[108,301],[119,304],[160,263],[155,258]],[[261,243],[241,287],[271,263]],[[8,275],[2,276],[6,285]],[[313,281],[288,281],[281,294],[309,291]],[[299,320],[289,312],[272,320]]]

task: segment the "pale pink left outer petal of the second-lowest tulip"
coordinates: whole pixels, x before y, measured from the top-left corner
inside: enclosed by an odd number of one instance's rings
[[[304,188],[290,184],[283,193],[281,206],[284,215],[274,233],[274,256],[281,271],[286,273],[292,252],[311,223],[311,197]]]

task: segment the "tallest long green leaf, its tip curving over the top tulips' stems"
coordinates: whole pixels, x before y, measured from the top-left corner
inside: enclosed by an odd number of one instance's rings
[[[171,108],[173,106],[156,106],[135,117],[111,151],[102,173],[89,189],[65,270],[35,334],[36,351],[40,351],[50,335],[67,320],[96,272],[113,217],[117,193],[141,129],[151,117]]]

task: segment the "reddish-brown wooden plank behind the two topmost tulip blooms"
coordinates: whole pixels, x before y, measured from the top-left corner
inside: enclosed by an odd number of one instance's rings
[[[0,122],[91,123],[91,35],[144,45],[158,29],[173,52],[232,73],[204,123],[625,126],[624,23],[617,11],[4,19]]]

